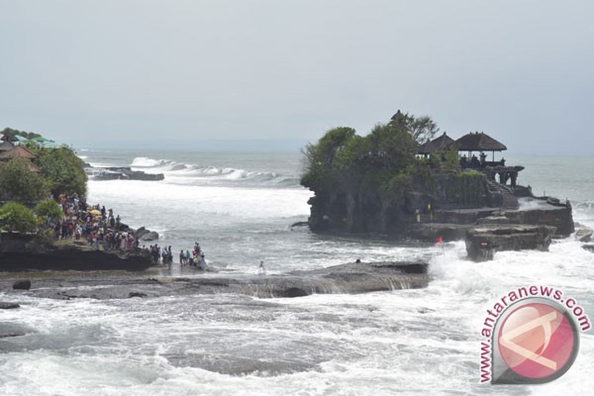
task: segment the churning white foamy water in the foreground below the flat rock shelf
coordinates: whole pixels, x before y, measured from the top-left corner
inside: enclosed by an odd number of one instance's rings
[[[267,299],[260,308],[225,295],[106,302],[23,296],[20,312],[8,311],[5,320],[39,333],[27,336],[30,351],[0,355],[0,369],[9,373],[0,389],[11,395],[587,394],[591,333],[583,335],[570,371],[538,387],[478,384],[479,333],[498,297],[535,281],[571,285],[567,292],[592,311],[586,297],[593,255],[571,240],[548,253],[499,252],[486,263],[466,261],[460,242],[447,243],[444,254],[428,252],[434,258],[427,289]],[[207,366],[221,360],[236,369],[273,362],[288,371],[228,375],[177,366],[176,359]],[[290,369],[298,363],[304,368]]]

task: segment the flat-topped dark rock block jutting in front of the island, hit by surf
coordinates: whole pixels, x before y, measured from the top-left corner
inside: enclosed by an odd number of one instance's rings
[[[473,261],[485,261],[494,252],[536,249],[547,251],[555,227],[527,224],[477,226],[466,233],[466,251]]]

